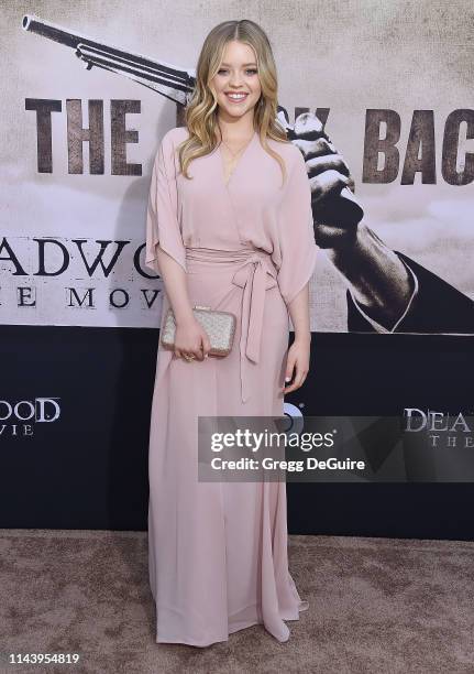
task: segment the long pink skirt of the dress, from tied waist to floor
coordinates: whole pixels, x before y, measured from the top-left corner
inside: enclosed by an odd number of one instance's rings
[[[238,317],[231,352],[158,345],[148,478],[156,641],[206,646],[263,623],[280,642],[308,608],[288,570],[285,481],[199,481],[199,416],[283,416],[288,311],[268,253],[187,248],[194,305]],[[163,296],[162,326],[169,302]]]

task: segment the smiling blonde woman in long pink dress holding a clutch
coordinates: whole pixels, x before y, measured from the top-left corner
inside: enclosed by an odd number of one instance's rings
[[[153,166],[145,262],[164,281],[162,326],[169,306],[176,319],[174,350],[158,345],[150,434],[157,642],[205,646],[256,623],[284,642],[284,621],[308,608],[288,572],[286,483],[205,482],[197,470],[198,416],[282,416],[308,372],[311,193],[276,109],[265,33],[221,23],[186,127],[164,135]],[[208,357],[196,304],[238,317],[229,356]]]

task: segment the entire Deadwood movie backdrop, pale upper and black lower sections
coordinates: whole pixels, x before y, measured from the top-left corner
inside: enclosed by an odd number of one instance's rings
[[[239,17],[213,1],[3,3],[0,526],[146,529],[163,301],[144,265],[151,170],[206,34],[234,18],[268,34],[282,124],[310,112],[351,174],[327,214],[353,221],[315,221],[311,368],[285,414],[349,424],[340,457],[366,469],[289,481],[290,533],[472,539],[463,0],[244,2]]]

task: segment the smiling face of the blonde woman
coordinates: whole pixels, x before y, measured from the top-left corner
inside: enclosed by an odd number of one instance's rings
[[[219,72],[212,78],[219,115],[229,121],[253,116],[253,107],[262,93],[255,52],[247,44],[236,40],[228,42]],[[239,94],[239,97],[232,97]]]

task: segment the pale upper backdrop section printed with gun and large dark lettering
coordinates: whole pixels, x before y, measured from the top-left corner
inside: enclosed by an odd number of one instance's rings
[[[225,4],[206,17],[233,15]],[[474,334],[470,6],[343,4],[261,21],[279,105],[290,123],[319,116],[365,211],[343,265],[320,250],[311,328]],[[208,18],[190,2],[10,2],[2,25],[1,322],[156,326],[161,280],[142,250],[151,165]]]

